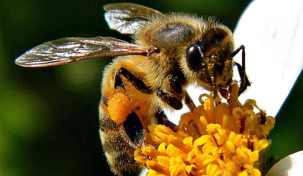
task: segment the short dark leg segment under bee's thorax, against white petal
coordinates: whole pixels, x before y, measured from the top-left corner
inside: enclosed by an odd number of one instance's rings
[[[171,106],[174,109],[181,109],[182,108],[182,101],[179,100],[177,97],[174,96],[174,94],[169,92],[164,92],[161,89],[157,90],[157,97],[161,98],[165,103],[167,103],[169,106]]]

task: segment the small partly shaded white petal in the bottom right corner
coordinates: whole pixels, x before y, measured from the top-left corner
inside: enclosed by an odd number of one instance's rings
[[[277,162],[265,176],[302,175],[303,150],[288,155]]]

